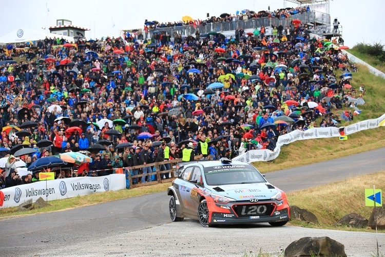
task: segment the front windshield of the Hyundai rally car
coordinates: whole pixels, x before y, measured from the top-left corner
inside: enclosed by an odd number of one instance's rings
[[[266,182],[261,173],[247,163],[206,167],[203,171],[209,186]]]

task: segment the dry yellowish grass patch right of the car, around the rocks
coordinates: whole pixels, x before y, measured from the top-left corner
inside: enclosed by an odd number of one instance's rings
[[[385,187],[385,172],[352,177],[328,185],[298,190],[287,194],[291,206],[313,212],[318,218],[318,225],[292,220],[290,224],[322,229],[375,232],[371,228],[352,228],[338,226],[338,220],[346,214],[355,212],[369,219],[373,207],[365,206],[365,188]],[[385,233],[385,230],[378,230]]]

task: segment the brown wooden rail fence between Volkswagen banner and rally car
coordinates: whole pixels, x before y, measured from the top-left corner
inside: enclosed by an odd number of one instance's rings
[[[199,156],[195,156],[195,159],[196,160],[199,160],[200,157]],[[154,163],[149,163],[149,164],[146,164],[146,165],[138,165],[138,166],[133,166],[133,167],[128,167],[128,168],[125,168],[127,169],[129,172],[126,172],[127,174],[127,180],[128,180],[128,183],[129,185],[127,185],[127,188],[137,188],[137,187],[143,187],[143,186],[150,186],[150,185],[155,185],[155,184],[159,184],[159,183],[166,183],[166,182],[171,182],[172,180],[175,179],[175,177],[178,176],[178,174],[175,174],[175,170],[176,170],[176,164],[178,162],[181,162],[182,159],[173,159],[173,160],[167,160],[167,161],[160,161],[160,162],[154,162]],[[164,170],[164,171],[161,171],[160,170],[160,167],[162,166],[162,164],[170,164],[170,170]],[[140,173],[142,171],[143,168],[145,167],[150,167],[150,169],[152,170],[152,172],[150,173],[145,173],[145,174],[138,174],[138,175],[133,175],[134,174],[134,170],[138,170],[138,172]],[[169,178],[168,179],[161,179],[163,177],[163,174],[165,173],[169,173]],[[151,181],[151,182],[145,182],[145,183],[141,183],[141,179],[142,177],[146,177],[146,176],[150,176],[151,177],[151,180],[153,179],[157,179],[155,181]],[[134,179],[136,179],[138,181],[138,183],[133,183],[134,182]]]

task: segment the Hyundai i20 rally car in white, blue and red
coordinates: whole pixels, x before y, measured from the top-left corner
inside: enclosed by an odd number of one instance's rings
[[[227,158],[182,162],[177,172],[178,178],[167,190],[173,222],[192,218],[204,227],[240,223],[283,226],[290,219],[286,194],[247,162]]]

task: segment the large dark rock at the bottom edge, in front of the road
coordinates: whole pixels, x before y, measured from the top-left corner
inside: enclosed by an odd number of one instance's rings
[[[345,247],[328,236],[302,237],[288,245],[285,257],[295,256],[347,256]]]

